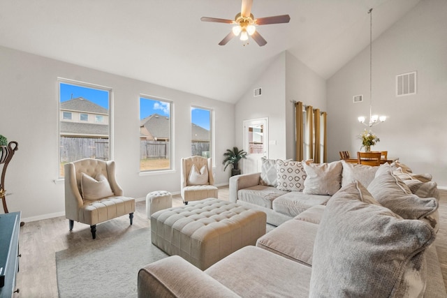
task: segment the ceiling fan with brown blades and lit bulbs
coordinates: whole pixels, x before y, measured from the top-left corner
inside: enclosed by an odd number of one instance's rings
[[[218,19],[216,17],[201,17],[200,20],[203,22],[217,22],[225,24],[234,24],[233,30],[228,33],[219,45],[226,45],[231,38],[238,36],[240,34],[240,40],[248,40],[249,36],[258,43],[259,46],[263,46],[267,41],[261,36],[261,34],[256,31],[256,26],[267,25],[267,24],[279,24],[288,23],[291,20],[289,15],[275,15],[273,17],[261,17],[255,19],[251,14],[251,6],[253,5],[253,0],[242,0],[242,8],[240,13],[235,17],[235,20]]]

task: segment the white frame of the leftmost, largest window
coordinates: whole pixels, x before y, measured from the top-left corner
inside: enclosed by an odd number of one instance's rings
[[[114,146],[113,146],[113,89],[112,87],[106,87],[99,84],[93,84],[88,82],[81,82],[78,80],[66,79],[64,77],[57,77],[57,179],[54,181],[64,181],[65,177],[62,177],[60,174],[60,165],[61,165],[61,154],[60,154],[60,138],[61,138],[61,84],[69,84],[77,87],[89,88],[89,89],[98,89],[101,91],[108,92],[108,154],[109,160],[112,161],[114,159]],[[73,120],[73,113],[72,113]]]

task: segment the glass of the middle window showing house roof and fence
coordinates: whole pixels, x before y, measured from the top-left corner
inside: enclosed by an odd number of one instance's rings
[[[140,172],[173,168],[171,109],[167,100],[140,97]]]

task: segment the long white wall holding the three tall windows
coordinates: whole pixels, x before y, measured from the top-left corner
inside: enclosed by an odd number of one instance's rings
[[[111,87],[113,92],[113,159],[125,195],[142,198],[149,191],[179,192],[179,160],[191,155],[191,105],[214,110],[215,181],[228,184],[220,166],[233,146],[234,105],[0,47],[0,134],[17,141],[19,150],[6,173],[9,211],[22,211],[25,221],[64,214],[64,184],[55,184],[58,169],[57,77]],[[150,70],[147,70],[150,71]],[[139,96],[173,100],[175,170],[139,174]],[[3,210],[0,209],[0,212]]]

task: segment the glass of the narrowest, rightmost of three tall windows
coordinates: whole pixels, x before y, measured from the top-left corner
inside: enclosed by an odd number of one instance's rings
[[[191,155],[212,157],[212,110],[191,107]]]

